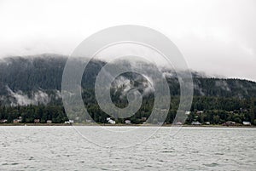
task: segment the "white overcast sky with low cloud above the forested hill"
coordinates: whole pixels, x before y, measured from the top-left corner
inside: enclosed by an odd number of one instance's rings
[[[166,34],[195,71],[256,81],[254,0],[0,0],[0,57],[71,54],[109,26]]]

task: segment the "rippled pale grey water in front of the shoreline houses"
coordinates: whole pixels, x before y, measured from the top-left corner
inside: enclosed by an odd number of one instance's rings
[[[160,128],[143,144],[116,150],[88,142],[72,127],[0,127],[0,170],[256,170],[255,128],[168,134],[170,128]]]

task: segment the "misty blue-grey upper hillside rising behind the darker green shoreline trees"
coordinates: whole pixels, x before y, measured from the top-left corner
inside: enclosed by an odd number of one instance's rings
[[[5,58],[0,63],[1,104],[37,105],[48,104],[61,99],[61,77],[66,65],[67,56],[61,54],[40,54],[34,56],[16,56]],[[96,76],[106,63],[91,60],[82,78],[82,87],[93,89]],[[113,67],[118,64],[112,64]],[[127,63],[126,65],[130,65]],[[137,67],[131,65],[129,67]],[[149,64],[143,64],[144,70],[151,70]],[[175,71],[162,68],[163,76],[169,84],[170,93],[178,95],[179,83]],[[200,72],[192,71],[195,96],[251,98],[256,97],[256,83],[241,79],[207,77]],[[132,81],[133,80],[133,81]],[[127,91],[135,87],[153,92],[154,88],[147,80],[136,74],[123,74],[113,82],[113,88]],[[144,92],[144,94],[145,94]]]

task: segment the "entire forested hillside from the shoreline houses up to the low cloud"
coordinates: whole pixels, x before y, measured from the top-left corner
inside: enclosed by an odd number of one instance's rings
[[[52,123],[67,121],[61,101],[61,77],[66,61],[67,56],[58,54],[3,59],[0,62],[0,121],[13,123],[17,118],[20,118],[21,123],[34,123],[35,119],[39,119],[40,123],[49,120]],[[105,64],[99,60],[90,61],[81,82],[84,105],[96,123],[107,123],[109,117],[100,109],[94,93],[96,76]],[[145,70],[150,69],[148,66],[144,67]],[[179,83],[172,70],[163,69],[163,73],[172,95],[166,123],[172,123],[179,104]],[[195,121],[211,124],[247,121],[256,125],[256,83],[204,77],[196,72],[192,74],[195,96],[187,124]],[[138,80],[142,81],[143,78],[133,73],[125,73],[118,79],[113,83],[116,91],[112,91],[111,97],[119,107],[127,105],[125,95],[121,95],[127,85],[122,81],[130,80],[129,86],[142,89],[142,92],[143,88],[149,86],[141,85]],[[131,120],[131,123],[143,123],[144,118],[149,117],[153,104],[154,92],[149,92],[143,96],[143,105],[139,111],[125,119]],[[125,119],[118,119],[116,122],[125,123]]]

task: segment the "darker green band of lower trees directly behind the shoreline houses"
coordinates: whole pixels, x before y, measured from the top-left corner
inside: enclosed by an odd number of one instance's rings
[[[88,95],[88,94],[87,94]],[[93,99],[93,98],[92,98]],[[84,107],[90,114],[90,117],[96,123],[107,123],[107,113],[102,111],[96,101],[87,99],[84,101]],[[116,101],[118,103],[118,101]],[[172,123],[176,117],[179,104],[178,97],[172,97],[170,110],[166,117],[166,123]],[[125,103],[119,102],[119,107],[125,107]],[[154,105],[154,97],[148,97],[143,100],[143,105],[132,117],[118,119],[117,123],[125,123],[126,119],[131,123],[138,124],[145,122],[142,118],[148,118]],[[221,97],[194,97],[191,105],[190,114],[186,120],[187,124],[198,121],[200,123],[222,124],[227,121],[242,123],[251,122],[256,125],[256,99],[237,99]],[[0,120],[6,119],[8,123],[22,117],[21,123],[34,123],[34,119],[40,119],[40,123],[46,123],[48,120],[52,123],[64,123],[68,120],[63,105],[17,105],[0,106]]]

